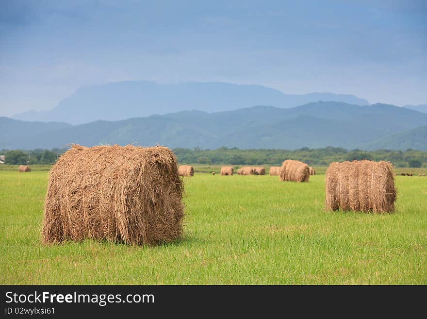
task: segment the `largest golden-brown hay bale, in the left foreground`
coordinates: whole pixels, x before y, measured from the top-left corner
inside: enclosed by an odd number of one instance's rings
[[[166,147],[73,145],[50,171],[42,240],[176,240],[182,192],[176,158]]]

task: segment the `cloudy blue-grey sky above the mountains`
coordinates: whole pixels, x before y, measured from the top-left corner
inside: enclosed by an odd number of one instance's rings
[[[0,0],[0,116],[124,80],[427,103],[427,1]]]

